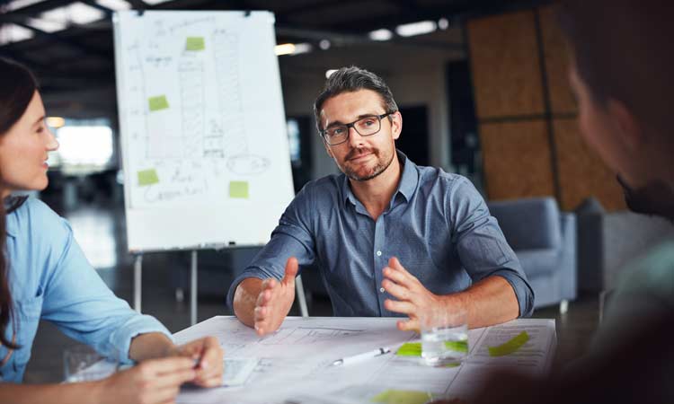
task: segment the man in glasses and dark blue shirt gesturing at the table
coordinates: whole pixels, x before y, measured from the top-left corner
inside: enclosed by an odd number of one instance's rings
[[[473,184],[395,149],[403,117],[380,77],[341,68],[314,111],[342,174],[306,184],[233,282],[227,301],[244,324],[278,329],[298,265],[314,262],[337,316],[407,316],[397,325],[408,330],[430,307],[464,309],[470,327],[533,311],[519,260]]]

